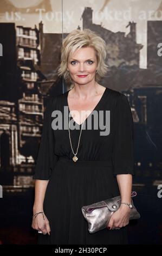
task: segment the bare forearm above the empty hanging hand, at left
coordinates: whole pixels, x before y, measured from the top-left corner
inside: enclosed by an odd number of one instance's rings
[[[49,180],[35,180],[35,200],[33,206],[33,214],[43,211],[44,196]]]

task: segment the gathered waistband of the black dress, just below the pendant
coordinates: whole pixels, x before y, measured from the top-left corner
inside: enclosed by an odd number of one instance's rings
[[[68,163],[73,166],[103,166],[103,167],[113,167],[111,157],[108,160],[77,160],[76,162],[73,159],[69,159],[67,156],[60,156],[58,161]]]

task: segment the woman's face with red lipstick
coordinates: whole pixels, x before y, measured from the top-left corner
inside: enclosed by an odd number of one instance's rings
[[[87,84],[95,80],[96,68],[97,58],[92,47],[81,47],[68,58],[67,70],[77,84]]]

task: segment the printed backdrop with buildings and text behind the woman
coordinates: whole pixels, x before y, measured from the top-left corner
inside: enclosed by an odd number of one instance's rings
[[[162,1],[1,0],[0,244],[35,244],[34,168],[49,97],[70,89],[57,77],[63,38],[89,28],[106,41],[100,82],[124,93],[134,121],[131,244],[162,244]]]

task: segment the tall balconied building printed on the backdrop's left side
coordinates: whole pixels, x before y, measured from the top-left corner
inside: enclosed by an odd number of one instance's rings
[[[41,78],[34,66],[40,65],[40,41],[36,27],[0,23],[0,28],[5,46],[1,63],[1,170],[4,182],[10,183],[15,174],[16,185],[22,179],[18,174],[33,172],[31,150],[41,137],[43,99],[37,87]],[[10,175],[5,176],[7,171]]]

